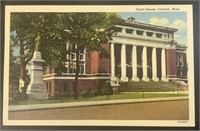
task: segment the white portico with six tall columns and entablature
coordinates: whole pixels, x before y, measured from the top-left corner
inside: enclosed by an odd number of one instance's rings
[[[176,74],[168,64],[174,63],[169,58],[175,53],[171,41],[177,29],[127,20],[116,25],[116,31],[110,45],[111,81],[116,77],[121,81],[168,81]]]

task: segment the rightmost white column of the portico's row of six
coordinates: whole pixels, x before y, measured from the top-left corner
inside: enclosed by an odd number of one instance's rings
[[[161,50],[161,71],[162,71],[162,81],[168,81],[166,78],[166,59],[165,59],[165,49]]]

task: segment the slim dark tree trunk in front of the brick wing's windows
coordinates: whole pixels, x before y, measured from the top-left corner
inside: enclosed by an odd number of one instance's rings
[[[79,48],[76,49],[76,74],[74,82],[74,99],[78,99],[78,76],[79,76]]]

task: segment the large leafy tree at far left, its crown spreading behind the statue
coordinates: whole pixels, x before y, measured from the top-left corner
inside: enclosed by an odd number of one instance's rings
[[[38,32],[42,35],[40,51],[48,65],[61,66],[64,60],[63,40],[61,39],[64,27],[62,26],[61,14],[55,13],[12,13],[11,14],[11,42],[19,47],[20,61],[20,88],[26,82],[26,66],[31,60],[35,47],[35,37]],[[65,55],[66,56],[66,55]]]

